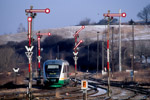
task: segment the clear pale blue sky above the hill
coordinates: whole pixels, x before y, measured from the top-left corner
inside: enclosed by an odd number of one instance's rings
[[[137,13],[148,4],[150,0],[0,0],[0,35],[17,33],[20,23],[27,30],[25,9],[31,5],[33,9],[50,9],[49,14],[38,13],[33,21],[33,30],[41,30],[74,26],[86,18],[98,22],[108,10],[125,12],[122,22],[140,20]]]

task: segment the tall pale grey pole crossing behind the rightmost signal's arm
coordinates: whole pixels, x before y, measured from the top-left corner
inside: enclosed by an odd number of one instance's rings
[[[121,14],[121,9],[119,10],[119,13]],[[121,66],[121,17],[119,16],[119,71],[122,71]]]

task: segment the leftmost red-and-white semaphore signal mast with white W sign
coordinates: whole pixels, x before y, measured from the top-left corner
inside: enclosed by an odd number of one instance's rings
[[[29,60],[29,93],[28,93],[28,97],[29,97],[29,100],[32,100],[32,50],[34,48],[34,46],[32,46],[32,19],[35,18],[36,16],[36,13],[50,13],[50,9],[46,8],[46,9],[32,9],[33,6],[30,7],[30,9],[26,9],[25,12],[26,12],[26,15],[28,17],[28,39],[29,39],[29,46],[25,46],[27,52],[25,52],[25,54],[27,55],[28,57],[28,60]]]

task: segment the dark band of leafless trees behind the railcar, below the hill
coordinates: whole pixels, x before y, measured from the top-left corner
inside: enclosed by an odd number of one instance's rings
[[[99,70],[102,68],[102,41],[99,42]],[[8,42],[6,45],[0,46],[0,72],[13,71],[12,68],[19,67],[21,69],[28,69],[28,59],[25,55],[26,49],[25,45],[28,44],[28,41],[22,41],[20,43]],[[132,55],[132,43],[131,41],[122,42],[122,59],[123,59],[123,69],[131,67],[131,55]],[[139,63],[140,66],[137,68],[143,68],[149,66],[148,58],[150,57],[149,53],[149,41],[135,41],[135,63]],[[37,68],[37,41],[33,42],[33,68]],[[131,46],[130,46],[131,45]],[[104,65],[106,66],[106,42],[104,41]],[[41,62],[48,59],[64,59],[67,60],[71,66],[74,66],[74,39],[65,39],[61,36],[51,36],[45,38],[41,43],[43,48],[41,51]],[[111,47],[111,44],[110,44]],[[118,71],[118,45],[114,45],[114,64],[115,71]],[[79,47],[78,54],[78,69],[81,71],[95,71],[97,67],[97,41],[85,40],[83,44]],[[111,59],[111,48],[110,48],[110,59]],[[143,57],[145,58],[146,63],[143,65]],[[111,64],[111,63],[110,63]],[[42,66],[42,65],[41,65]],[[110,65],[111,66],[111,65]]]

